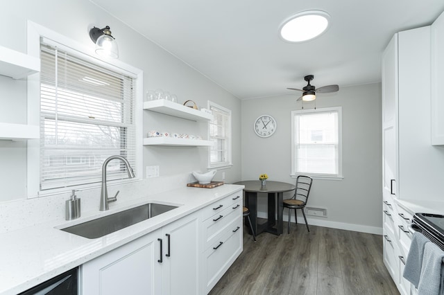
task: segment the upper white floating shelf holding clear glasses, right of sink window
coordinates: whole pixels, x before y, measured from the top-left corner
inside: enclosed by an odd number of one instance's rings
[[[187,120],[213,120],[212,114],[207,114],[205,111],[198,111],[197,109],[164,99],[146,101],[144,102],[144,109]]]

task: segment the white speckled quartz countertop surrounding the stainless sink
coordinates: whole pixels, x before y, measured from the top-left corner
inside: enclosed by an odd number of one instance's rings
[[[110,211],[82,212],[82,217],[77,220],[69,222],[54,220],[1,233],[0,294],[23,292],[242,188],[244,186],[232,184],[212,189],[184,187],[133,199],[126,203],[119,200],[110,205]],[[87,239],[57,229],[149,202],[180,206],[102,238]]]

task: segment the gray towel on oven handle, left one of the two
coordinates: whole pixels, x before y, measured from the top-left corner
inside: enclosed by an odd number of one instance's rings
[[[409,256],[407,256],[404,274],[402,274],[402,276],[415,285],[415,287],[418,287],[419,284],[422,256],[424,256],[424,246],[427,242],[430,242],[430,240],[425,235],[422,235],[422,233],[418,233],[417,231],[413,233]]]

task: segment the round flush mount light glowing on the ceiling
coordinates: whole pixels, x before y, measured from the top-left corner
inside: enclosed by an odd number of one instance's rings
[[[330,15],[321,10],[299,12],[280,26],[280,36],[288,42],[304,42],[318,37],[327,30]]]

